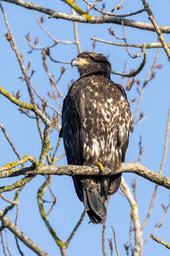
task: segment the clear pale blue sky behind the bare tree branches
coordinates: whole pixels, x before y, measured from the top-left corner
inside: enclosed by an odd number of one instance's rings
[[[67,13],[71,12],[70,7],[59,0],[34,0],[32,2],[48,7],[50,9],[54,9],[56,11]],[[53,41],[48,38],[48,36],[45,35],[44,32],[39,28],[33,11],[24,9],[20,6],[15,6],[13,4],[4,2],[1,3],[6,11],[19,52],[23,53],[25,66],[27,66],[28,61],[31,61],[31,67],[36,70],[36,73],[34,73],[31,81],[33,82],[40,95],[45,96],[45,99],[48,99],[46,93],[50,90],[50,85],[48,77],[42,67],[41,53],[40,51],[33,51],[32,54],[28,54],[30,48],[28,47],[26,38],[24,36],[27,34],[27,32],[30,31],[32,42],[34,42],[35,37],[39,36],[40,43],[38,46],[42,47],[53,44]],[[107,1],[106,10],[111,10],[117,3],[117,1]],[[160,25],[170,26],[170,1],[162,0],[160,3],[159,0],[149,0],[149,3],[157,22]],[[81,6],[83,10],[85,10],[85,3],[83,3],[81,0],[78,0],[77,4]],[[99,7],[101,7],[101,4],[99,4]],[[123,3],[123,9],[119,10],[119,12],[116,11],[116,13],[130,13],[142,8],[143,6],[141,0],[129,0]],[[42,15],[40,13],[37,14],[39,17]],[[91,12],[91,14],[99,15],[96,12]],[[145,12],[137,16],[133,16],[132,19],[149,22],[147,13]],[[48,19],[48,16],[46,15],[45,23],[43,23],[43,25],[57,39],[74,41],[73,23],[71,21],[61,19]],[[92,50],[91,37],[94,35],[96,38],[116,41],[113,36],[109,35],[107,29],[110,26],[116,35],[122,37],[122,27],[119,25],[91,25],[79,23],[78,30],[82,51]],[[20,100],[28,102],[29,98],[26,84],[25,82],[22,82],[20,79],[18,79],[19,76],[22,76],[22,73],[17,58],[9,43],[6,41],[6,38],[4,37],[4,31],[6,30],[7,29],[3,20],[3,15],[0,12],[0,85],[10,92],[13,90],[14,92],[17,92],[17,90],[20,89]],[[130,27],[125,27],[125,31],[127,34],[128,43],[140,44],[157,41],[157,35],[154,32],[137,30]],[[164,37],[167,41],[170,41],[169,35],[164,34]],[[133,54],[140,53],[139,49],[130,50]],[[105,55],[110,54],[109,59],[112,63],[113,70],[119,72],[122,72],[125,61],[127,61],[128,71],[130,68],[136,69],[141,62],[141,58],[132,60],[127,55],[125,49],[121,47],[96,42],[95,51],[104,53]],[[153,63],[156,49],[148,49],[147,53],[147,64],[145,65],[142,72],[137,76],[141,82],[144,81],[144,77],[146,76],[147,71]],[[59,61],[69,62],[72,58],[77,56],[77,48],[75,45],[58,44],[54,49],[51,50],[51,55],[54,59]],[[147,85],[139,110],[139,113],[144,112],[144,115],[148,116],[148,118],[144,120],[144,122],[135,126],[133,135],[130,136],[130,145],[126,157],[127,162],[136,160],[139,155],[139,136],[142,135],[142,145],[144,148],[146,148],[146,151],[142,157],[141,163],[147,168],[150,168],[156,172],[158,172],[160,169],[161,158],[163,155],[167,113],[170,102],[170,63],[167,61],[167,57],[163,49],[160,51],[158,64],[163,64],[163,67],[161,70],[157,70],[156,79],[152,80]],[[57,79],[62,64],[54,64],[48,60],[48,66],[50,68],[51,74],[54,74],[55,78]],[[59,87],[61,88],[64,95],[67,92],[68,83],[70,80],[76,80],[78,78],[76,68],[72,69],[71,65],[65,65],[65,68],[65,74],[59,82]],[[112,75],[112,80],[121,83],[121,77],[119,76]],[[126,82],[127,80],[125,80],[125,83]],[[129,100],[133,99],[134,97],[138,97],[138,93],[136,92],[136,84],[133,85],[133,88],[130,90],[130,92],[127,92],[127,97]],[[136,109],[136,103],[137,102],[131,105],[133,114]],[[32,119],[28,119],[25,115],[21,115],[17,110],[17,106],[12,105],[11,102],[9,102],[3,96],[0,96],[0,122],[3,123],[21,157],[23,157],[25,154],[30,154],[37,159],[39,158],[41,142],[37,132],[36,122]],[[58,134],[56,132],[51,136],[52,147],[55,147],[57,139]],[[57,155],[59,156],[62,153],[63,146],[60,147]],[[17,160],[17,157],[11,150],[10,145],[7,143],[6,138],[4,138],[2,132],[0,132],[0,166],[15,160]],[[58,164],[67,164],[66,158],[63,158]],[[167,152],[164,175],[170,176],[170,149]],[[123,176],[131,187],[134,175],[124,174]],[[10,178],[0,180],[0,186],[11,184],[15,180],[17,179]],[[47,253],[49,253],[49,255],[56,256],[60,255],[59,249],[54,240],[51,238],[50,233],[46,229],[45,224],[40,217],[37,206],[37,189],[41,186],[42,182],[44,182],[44,177],[36,177],[23,189],[23,192],[20,195],[20,216],[18,219],[18,227],[24,233],[26,233],[28,237],[40,245]],[[57,232],[59,238],[62,239],[62,241],[66,241],[83,211],[83,205],[77,198],[71,177],[53,177],[52,188],[54,194],[57,195],[57,204],[49,217],[49,221],[51,222],[54,230]],[[147,210],[153,194],[153,189],[154,184],[144,180],[141,177],[138,177],[137,201],[141,223],[143,223],[146,218]],[[10,199],[13,199],[14,191],[6,192],[4,195]],[[47,199],[48,194],[46,194],[44,198]],[[152,216],[149,223],[147,224],[147,227],[143,230],[143,239],[147,238],[147,236],[152,233],[156,223],[160,221],[164,213],[161,204],[167,205],[168,203],[169,191],[159,187]],[[0,200],[0,208],[4,209],[5,206],[6,203],[4,203],[3,200]],[[11,220],[14,221],[15,209],[9,212],[8,216],[11,218]],[[88,221],[88,217],[86,216],[81,227],[75,234],[68,247],[68,255],[102,256],[102,226],[94,226],[93,224],[88,224]],[[129,224],[129,203],[127,202],[126,198],[116,193],[116,195],[111,198],[108,210],[106,229],[106,248],[108,250],[108,255],[109,247],[107,239],[111,237],[113,238],[111,225],[115,229],[119,252],[122,256],[125,255],[125,249],[123,245],[129,241]],[[169,227],[170,212],[167,213],[167,217],[162,227],[156,232],[156,236],[159,236],[161,239],[170,242]],[[8,240],[12,255],[19,255],[14,241],[14,236],[10,232],[8,232]],[[35,255],[25,245],[21,244],[21,248],[25,255]],[[146,244],[144,244],[143,251],[144,256],[169,255],[169,251],[165,247],[157,244],[151,239]],[[114,252],[114,254],[115,253],[116,252]],[[0,255],[3,255],[2,247],[0,247]]]

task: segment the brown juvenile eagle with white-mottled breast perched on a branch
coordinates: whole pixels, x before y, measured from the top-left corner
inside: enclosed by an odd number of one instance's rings
[[[124,88],[111,80],[111,63],[103,54],[85,51],[71,61],[79,79],[74,81],[62,106],[62,128],[68,165],[105,166],[116,172],[133,131],[133,117]],[[102,224],[105,202],[119,188],[122,174],[74,175],[77,196],[94,224]]]

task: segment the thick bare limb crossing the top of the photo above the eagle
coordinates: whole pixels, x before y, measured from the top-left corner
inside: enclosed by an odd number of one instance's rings
[[[64,19],[64,20],[71,20],[71,21],[77,21],[77,22],[82,22],[82,23],[96,23],[96,24],[101,24],[101,23],[114,23],[122,26],[122,21],[124,23],[124,26],[130,26],[136,29],[144,29],[144,30],[149,30],[155,32],[155,29],[152,24],[150,23],[144,23],[144,22],[139,22],[136,20],[128,20],[125,18],[117,18],[117,17],[109,17],[109,16],[91,16],[88,15],[87,13],[83,15],[71,15],[63,12],[56,12],[54,10],[45,8],[43,6],[34,4],[34,3],[29,3],[29,2],[24,2],[22,0],[2,0],[7,3],[14,3],[16,5],[22,6],[26,9],[31,9],[31,10],[36,10],[38,12],[45,13],[47,15],[50,15],[53,18],[57,19]],[[159,29],[161,30],[162,33],[170,33],[170,26],[159,26]]]

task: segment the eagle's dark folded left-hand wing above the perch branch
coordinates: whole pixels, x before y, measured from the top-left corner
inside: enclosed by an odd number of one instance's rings
[[[74,85],[74,84],[73,84]],[[63,101],[62,129],[59,137],[64,139],[64,148],[68,164],[83,165],[84,130],[84,102],[81,90],[70,88]]]

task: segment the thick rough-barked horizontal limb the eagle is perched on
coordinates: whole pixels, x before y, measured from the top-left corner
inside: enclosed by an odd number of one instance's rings
[[[7,166],[7,165],[6,165]],[[167,189],[170,189],[170,178],[161,175],[157,172],[154,172],[146,167],[142,166],[140,163],[122,163],[122,166],[116,173],[122,172],[131,172],[135,173],[141,177],[144,177],[147,180],[150,180],[153,183],[163,186]],[[101,175],[99,168],[97,166],[39,166],[38,169],[35,169],[33,166],[25,168],[14,168],[10,170],[4,170],[0,168],[0,178],[5,177],[17,177],[20,175]],[[105,167],[103,175],[113,175],[113,172]]]

